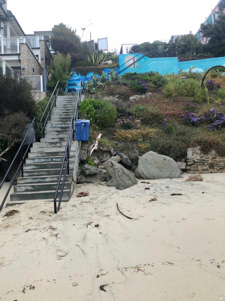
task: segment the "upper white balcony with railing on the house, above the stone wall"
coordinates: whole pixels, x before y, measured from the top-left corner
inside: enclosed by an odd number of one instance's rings
[[[26,36],[26,37],[0,37],[0,54],[19,53],[19,44],[26,43],[30,48],[39,48],[39,41],[44,40],[44,36]]]

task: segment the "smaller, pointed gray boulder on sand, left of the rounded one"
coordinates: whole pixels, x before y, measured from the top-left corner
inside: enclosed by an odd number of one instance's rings
[[[123,190],[137,184],[137,179],[132,172],[116,161],[110,161],[106,169],[107,186]]]

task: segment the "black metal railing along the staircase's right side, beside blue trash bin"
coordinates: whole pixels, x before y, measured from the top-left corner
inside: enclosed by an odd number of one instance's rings
[[[84,91],[85,91],[85,82],[83,80],[83,81],[80,81],[80,86],[79,86],[79,91],[78,91],[78,96],[77,96],[77,101],[76,101],[75,114],[74,114],[74,116],[71,116],[67,143],[66,143],[66,147],[65,147],[63,160],[62,160],[61,170],[60,170],[59,177],[58,177],[58,183],[57,183],[56,190],[55,190],[55,196],[54,196],[54,212],[55,213],[57,213],[57,211],[59,211],[59,209],[60,209],[66,175],[70,174],[70,167],[69,167],[70,149],[71,149],[72,141],[74,141],[75,132],[76,132],[76,125],[74,128],[74,122],[76,119],[79,118],[79,103],[81,101],[81,95],[84,94]],[[65,164],[65,162],[66,162],[66,164]],[[65,167],[64,167],[64,164],[65,164]],[[76,164],[76,162],[75,162],[75,164]],[[63,173],[64,168],[65,168],[65,170]],[[60,191],[59,200],[58,200],[58,207],[57,207],[56,200],[57,200],[57,195],[58,195],[58,191],[59,191],[62,174],[63,174],[63,180],[62,180],[62,186],[61,186],[61,191]]]

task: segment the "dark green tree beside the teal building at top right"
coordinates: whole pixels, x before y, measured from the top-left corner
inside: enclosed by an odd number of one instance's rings
[[[200,29],[208,44],[225,43],[225,14],[220,14],[214,23],[202,23]]]

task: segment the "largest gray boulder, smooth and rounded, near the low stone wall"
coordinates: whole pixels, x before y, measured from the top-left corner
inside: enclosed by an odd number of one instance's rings
[[[136,177],[146,180],[180,178],[177,163],[170,157],[149,151],[140,157]]]

